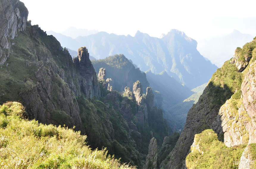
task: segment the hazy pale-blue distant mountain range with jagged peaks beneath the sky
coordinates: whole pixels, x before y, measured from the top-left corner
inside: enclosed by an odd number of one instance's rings
[[[134,37],[99,32],[79,36],[74,39],[76,42],[65,38],[60,38],[60,43],[69,49],[76,50],[86,45],[96,59],[124,54],[142,71],[150,69],[155,74],[166,71],[190,89],[206,83],[217,69],[196,50],[195,40],[174,29],[162,38],[150,37],[140,31]]]

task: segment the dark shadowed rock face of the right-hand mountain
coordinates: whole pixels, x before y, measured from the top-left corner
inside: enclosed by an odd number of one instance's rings
[[[221,126],[221,123],[216,123],[218,111],[221,106],[211,106],[208,104],[213,102],[214,99],[214,96],[208,95],[208,90],[210,87],[213,87],[212,85],[212,83],[209,83],[206,86],[203,94],[199,97],[199,101],[189,110],[179,140],[169,154],[171,158],[166,168],[186,168],[185,158],[190,151],[190,146],[193,144],[195,134],[201,133],[208,128],[213,128],[216,131]]]

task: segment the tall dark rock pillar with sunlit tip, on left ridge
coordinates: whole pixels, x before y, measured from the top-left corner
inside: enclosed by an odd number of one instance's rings
[[[86,97],[92,98],[93,96],[96,96],[99,99],[99,82],[92,62],[89,59],[89,53],[86,47],[81,47],[78,49],[78,56],[75,58],[74,63],[81,75],[81,91],[83,91]]]

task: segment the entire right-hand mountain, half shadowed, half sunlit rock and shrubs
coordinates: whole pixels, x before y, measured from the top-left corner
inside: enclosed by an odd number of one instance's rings
[[[255,168],[255,51],[256,38],[213,74],[165,168]]]

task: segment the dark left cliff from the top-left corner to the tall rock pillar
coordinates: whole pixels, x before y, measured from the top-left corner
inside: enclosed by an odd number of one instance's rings
[[[56,38],[27,22],[22,2],[7,0],[0,5],[0,102],[21,101],[30,119],[75,125],[84,133],[76,96],[100,97],[87,49],[80,48],[73,63]]]

